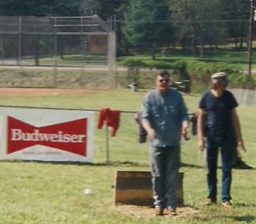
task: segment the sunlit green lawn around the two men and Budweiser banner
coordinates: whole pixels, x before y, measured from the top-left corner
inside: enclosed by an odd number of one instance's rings
[[[0,105],[33,107],[92,108],[138,110],[145,92],[100,91],[88,96],[0,97]],[[195,112],[198,96],[184,96],[189,112]],[[255,107],[239,107],[247,153],[246,163],[256,167]],[[64,223],[256,223],[256,191],[254,170],[234,170],[232,196],[234,207],[225,210],[220,204],[204,207],[207,193],[205,165],[198,153],[197,138],[182,143],[185,172],[185,204],[198,210],[186,218],[156,218],[120,213],[113,206],[116,170],[150,170],[148,144],[138,144],[138,128],[134,114],[121,115],[116,137],[109,138],[111,165],[104,165],[104,131],[95,131],[94,165],[61,165],[54,163],[0,162],[1,224]],[[95,121],[96,122],[96,121]],[[221,170],[218,170],[219,192]],[[84,195],[86,188],[92,195]],[[220,198],[219,198],[220,199]]]

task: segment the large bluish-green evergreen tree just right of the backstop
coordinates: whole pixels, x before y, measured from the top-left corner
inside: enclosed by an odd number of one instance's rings
[[[125,15],[125,36],[134,46],[152,49],[156,59],[157,45],[166,43],[173,35],[168,4],[164,0],[132,0]]]

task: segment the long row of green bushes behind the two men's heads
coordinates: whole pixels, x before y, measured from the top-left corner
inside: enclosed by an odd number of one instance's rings
[[[225,63],[205,63],[204,61],[192,60],[179,60],[174,63],[168,63],[166,61],[153,61],[143,59],[126,59],[122,61],[123,66],[129,68],[130,80],[134,83],[138,83],[140,79],[140,86],[143,84],[143,78],[139,68],[149,68],[150,70],[166,69],[174,70],[178,80],[191,80],[196,83],[197,89],[205,89],[211,79],[211,75],[216,72],[224,71],[228,74],[230,80],[230,87],[255,89],[255,78],[243,75],[238,66],[232,66]],[[193,83],[192,83],[193,85]],[[143,85],[142,85],[143,86]]]

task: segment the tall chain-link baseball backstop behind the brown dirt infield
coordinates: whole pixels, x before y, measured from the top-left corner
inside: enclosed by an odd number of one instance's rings
[[[0,17],[1,86],[114,87],[115,49],[97,15]]]

